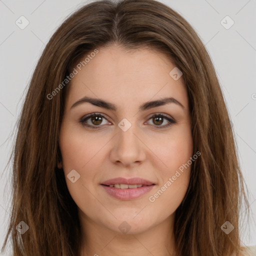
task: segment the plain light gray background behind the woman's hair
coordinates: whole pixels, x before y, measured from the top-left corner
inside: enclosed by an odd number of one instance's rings
[[[35,64],[56,27],[81,0],[0,0],[0,246],[9,217],[10,168],[4,169],[13,141],[23,92]],[[256,244],[256,0],[161,0],[179,12],[196,30],[214,63],[232,119],[239,160],[249,190],[253,218],[243,225],[242,243]],[[29,24],[20,29],[23,15]],[[234,24],[226,29],[228,15]],[[225,26],[230,20],[224,19]],[[24,23],[23,23],[24,24]],[[248,229],[250,226],[250,229]],[[248,234],[250,233],[250,239]],[[7,253],[6,253],[7,254]]]

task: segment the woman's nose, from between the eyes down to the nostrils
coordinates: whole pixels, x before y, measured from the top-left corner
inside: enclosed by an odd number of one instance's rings
[[[146,158],[146,146],[139,136],[135,125],[123,131],[117,128],[117,134],[112,139],[110,160],[125,167],[140,164]]]

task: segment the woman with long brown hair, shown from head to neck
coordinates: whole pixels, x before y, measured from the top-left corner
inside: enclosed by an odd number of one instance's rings
[[[184,18],[154,0],[68,17],[19,120],[13,255],[253,255],[242,199],[221,89]]]

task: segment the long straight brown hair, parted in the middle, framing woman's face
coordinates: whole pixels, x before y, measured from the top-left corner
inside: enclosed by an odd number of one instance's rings
[[[175,213],[177,255],[240,255],[239,212],[242,202],[248,208],[248,201],[220,85],[191,25],[155,0],[88,3],[50,38],[33,72],[19,118],[11,218],[2,251],[10,235],[14,256],[78,255],[77,206],[63,171],[56,167],[61,159],[59,128],[68,83],[56,87],[85,54],[112,43],[127,50],[157,49],[183,73],[193,150],[201,155],[191,165],[189,187]],[[24,234],[15,228],[20,221],[29,226]],[[225,221],[234,226],[229,234],[221,229]]]

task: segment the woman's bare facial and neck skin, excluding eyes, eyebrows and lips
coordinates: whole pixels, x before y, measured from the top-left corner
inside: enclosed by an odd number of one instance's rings
[[[149,196],[167,182],[193,155],[188,95],[182,76],[174,80],[174,68],[164,54],[147,48],[125,52],[118,45],[99,52],[72,78],[65,100],[59,146],[68,190],[78,206],[82,228],[80,255],[173,255],[175,210],[188,187],[190,165],[165,191],[149,201]],[[90,96],[111,102],[108,110],[85,102]],[[144,111],[140,104],[171,96],[184,107],[168,103]],[[79,120],[89,113],[103,113],[107,119],[86,123]],[[176,123],[165,126],[150,118],[164,113]],[[131,127],[123,131],[118,123],[126,118]],[[100,126],[101,125],[101,126]],[[165,128],[157,128],[165,126]],[[80,178],[72,183],[67,174],[75,169]],[[141,177],[155,183],[146,194],[131,200],[108,195],[100,183],[115,177]],[[123,233],[118,226],[130,226]]]

